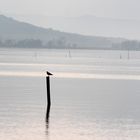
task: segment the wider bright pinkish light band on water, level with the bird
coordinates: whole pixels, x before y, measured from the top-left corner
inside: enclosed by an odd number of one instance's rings
[[[64,73],[55,72],[56,78],[79,78],[79,79],[114,79],[114,80],[140,80],[140,75],[124,74],[86,74],[86,73]],[[17,77],[45,77],[45,72],[19,72],[19,71],[1,71],[0,76],[17,76]]]

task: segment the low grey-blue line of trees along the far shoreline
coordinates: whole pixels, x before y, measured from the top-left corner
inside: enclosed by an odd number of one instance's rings
[[[90,44],[91,46],[91,44]],[[138,50],[140,51],[140,41],[136,40],[125,40],[122,42],[112,43],[108,45],[109,47],[100,46],[93,44],[93,47],[81,47],[76,43],[68,43],[63,39],[53,39],[46,43],[40,39],[24,39],[15,41],[12,39],[2,40],[0,39],[0,47],[7,48],[48,48],[48,49],[103,49],[103,50]]]

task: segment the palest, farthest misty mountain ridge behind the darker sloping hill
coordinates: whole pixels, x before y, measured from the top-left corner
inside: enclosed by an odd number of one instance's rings
[[[13,15],[31,24],[90,36],[104,36],[140,40],[140,20],[116,19],[83,15],[77,17],[45,15]]]

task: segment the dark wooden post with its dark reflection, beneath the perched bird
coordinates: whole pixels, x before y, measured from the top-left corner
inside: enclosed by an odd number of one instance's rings
[[[50,107],[51,107],[51,96],[50,96],[50,77],[46,77],[46,88],[47,88],[47,111],[46,111],[46,121],[49,119]]]

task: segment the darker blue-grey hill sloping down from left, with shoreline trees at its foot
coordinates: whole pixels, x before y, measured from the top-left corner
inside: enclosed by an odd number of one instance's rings
[[[60,32],[0,15],[1,47],[117,49],[125,41],[127,40],[122,38],[84,36]]]

